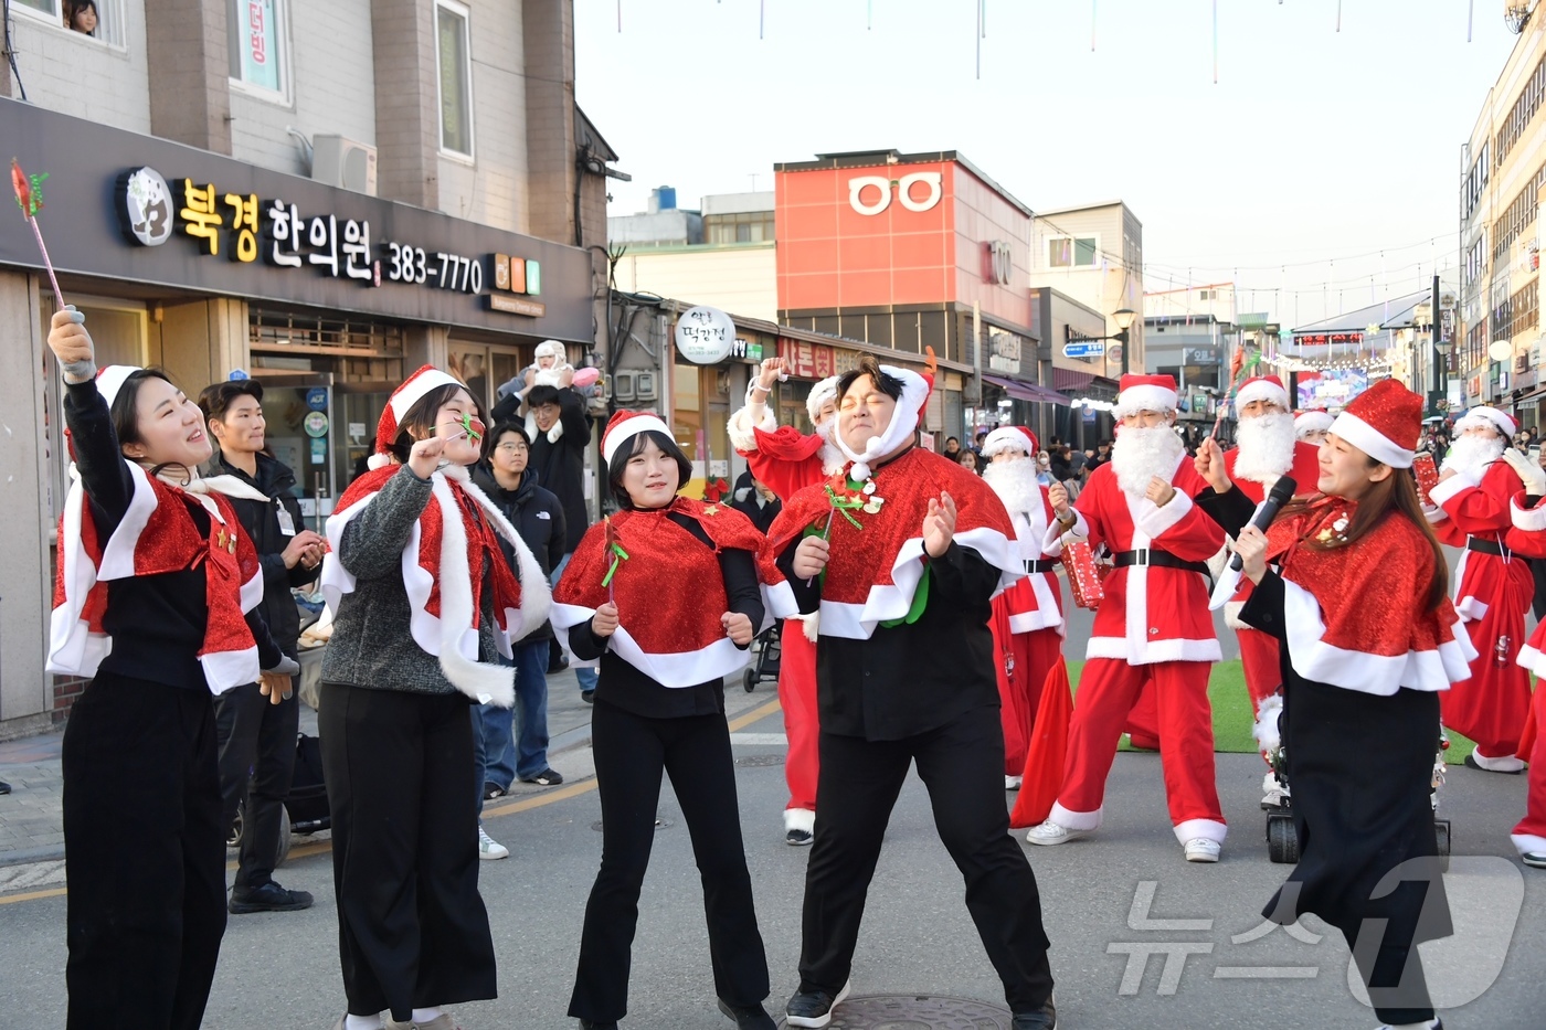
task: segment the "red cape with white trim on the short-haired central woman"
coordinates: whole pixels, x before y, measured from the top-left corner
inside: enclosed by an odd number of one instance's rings
[[[666,518],[686,515],[711,541]],[[611,592],[617,595],[618,628],[608,645],[625,662],[662,687],[696,687],[730,676],[747,663],[720,617],[730,611],[719,571],[724,549],[756,554],[762,534],[751,520],[725,504],[679,496],[666,507],[618,512],[611,518],[618,558]],[[553,592],[553,626],[560,631],[589,620],[608,602],[601,585],[612,564],[606,523],[586,530]]]

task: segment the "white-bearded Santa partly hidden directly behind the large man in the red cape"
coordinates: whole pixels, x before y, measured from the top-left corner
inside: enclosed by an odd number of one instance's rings
[[[1044,537],[1053,521],[1047,487],[1036,481],[1040,450],[1036,433],[1022,425],[1000,425],[982,441],[988,467],[983,481],[993,487],[1014,524],[1019,558],[1025,578],[993,599],[994,671],[1003,704],[1003,786],[1014,790],[1025,770],[1025,752],[1036,724],[1047,673],[1062,656],[1064,616],[1057,586],[1059,538],[1044,551]]]

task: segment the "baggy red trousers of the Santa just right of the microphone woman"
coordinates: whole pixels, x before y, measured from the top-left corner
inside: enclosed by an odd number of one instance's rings
[[[1476,750],[1487,758],[1503,758],[1520,749],[1520,730],[1531,710],[1531,674],[1514,659],[1524,643],[1524,612],[1531,606],[1534,583],[1506,574],[1501,578],[1503,589],[1492,599],[1487,614],[1466,623],[1470,643],[1478,651],[1470,663],[1470,679],[1439,694],[1444,725],[1476,741]],[[1498,642],[1503,637],[1507,643],[1500,662]]]

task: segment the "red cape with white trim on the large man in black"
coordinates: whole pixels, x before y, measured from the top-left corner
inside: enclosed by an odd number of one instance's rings
[[[849,512],[860,529],[841,513],[832,518],[832,554],[821,585],[822,636],[867,640],[881,622],[908,614],[926,568],[923,518],[929,500],[938,500],[940,490],[955,501],[955,543],[971,547],[1000,571],[999,589],[1025,575],[1003,501],[954,461],[914,447],[877,469],[873,483],[872,496],[884,500],[875,513]],[[778,557],[809,526],[827,524],[832,501],[826,487],[826,483],[810,486],[784,501],[784,510],[768,527],[758,566],[768,583],[775,614],[781,617],[798,616],[799,608],[778,569]],[[849,492],[846,484],[841,492]]]

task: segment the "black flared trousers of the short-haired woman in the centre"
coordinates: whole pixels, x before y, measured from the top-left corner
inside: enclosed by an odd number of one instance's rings
[[[601,793],[601,871],[584,909],[569,1015],[595,1022],[628,1015],[629,951],[656,837],[662,772],[671,776],[703,878],[714,993],[733,1005],[762,1002],[768,960],[751,905],[725,716],[649,719],[597,694],[591,747]]]

